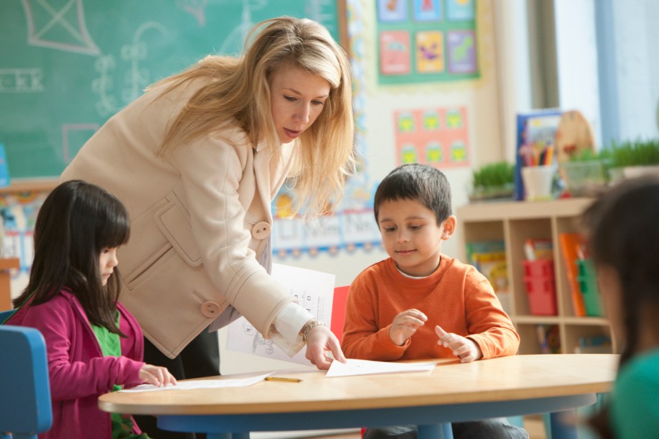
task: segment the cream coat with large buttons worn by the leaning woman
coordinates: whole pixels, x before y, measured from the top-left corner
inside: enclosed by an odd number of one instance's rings
[[[152,91],[112,117],[82,147],[61,180],[82,179],[128,209],[130,241],[119,250],[121,300],[144,334],[175,357],[229,305],[268,337],[292,296],[256,257],[266,247],[270,202],[290,167],[270,163],[244,132],[218,130],[157,158],[167,122],[197,86],[154,102]]]

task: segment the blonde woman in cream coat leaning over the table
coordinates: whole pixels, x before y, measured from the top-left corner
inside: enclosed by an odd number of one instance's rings
[[[150,86],[61,177],[126,205],[122,302],[144,331],[145,360],[176,379],[220,373],[208,328],[238,312],[289,355],[306,344],[319,369],[327,352],[345,360],[332,332],[268,273],[270,202],[284,180],[299,195],[295,211],[313,216],[353,171],[349,63],[307,19],[259,23],[246,46],[240,58],[208,56]]]

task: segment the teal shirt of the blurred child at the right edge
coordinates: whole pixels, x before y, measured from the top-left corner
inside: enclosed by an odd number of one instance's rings
[[[659,434],[659,349],[637,355],[618,372],[611,422],[618,438],[646,439]]]

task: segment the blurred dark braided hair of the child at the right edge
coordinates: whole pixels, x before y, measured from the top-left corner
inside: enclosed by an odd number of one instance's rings
[[[592,261],[608,265],[621,282],[625,341],[620,366],[638,350],[640,311],[659,305],[659,178],[648,176],[618,183],[581,215]],[[608,410],[590,420],[601,438],[611,438]]]

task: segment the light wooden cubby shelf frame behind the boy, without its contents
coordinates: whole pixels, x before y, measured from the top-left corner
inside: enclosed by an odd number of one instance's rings
[[[541,353],[537,328],[555,324],[559,329],[562,353],[574,353],[581,337],[607,335],[612,340],[610,351],[618,353],[605,317],[581,317],[575,314],[572,289],[561,247],[561,233],[577,232],[577,217],[592,202],[589,198],[572,198],[547,202],[486,202],[469,204],[456,211],[462,229],[463,244],[472,241],[503,240],[506,248],[509,313],[520,333],[519,353]],[[554,253],[556,316],[531,314],[524,285],[524,242],[527,239],[551,239]]]

